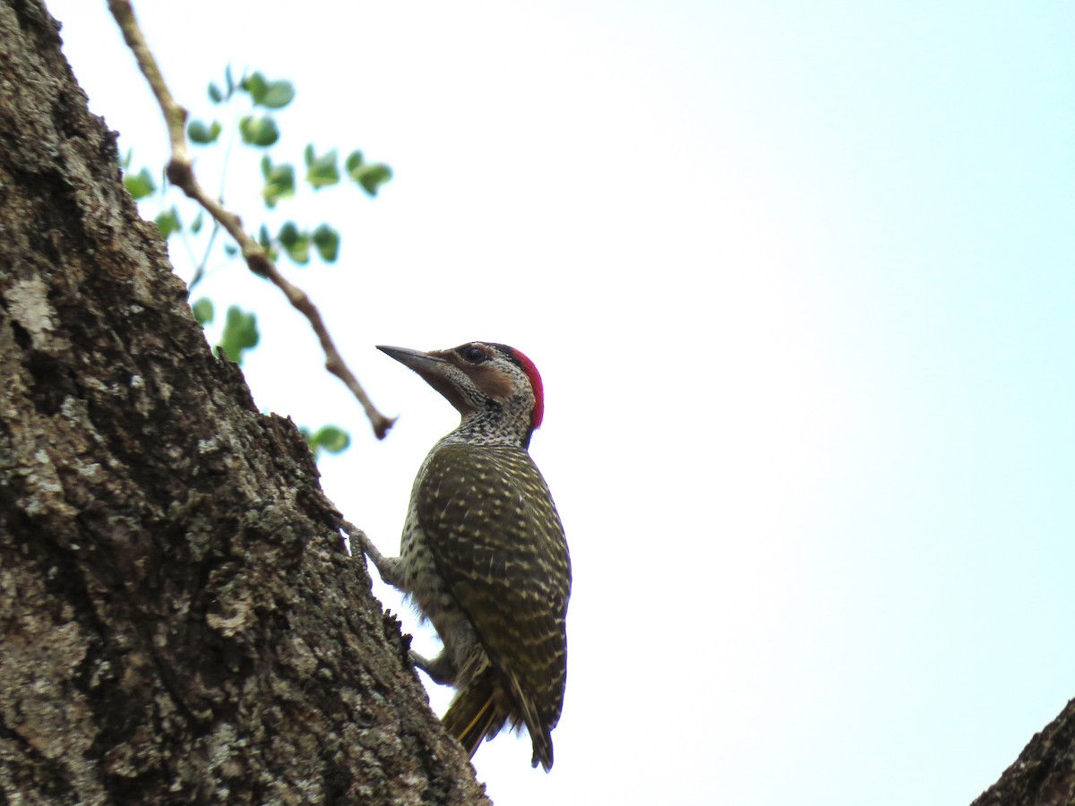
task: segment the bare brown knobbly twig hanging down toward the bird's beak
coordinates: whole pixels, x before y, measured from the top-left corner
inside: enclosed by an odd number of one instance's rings
[[[287,301],[310,320],[310,326],[317,334],[317,339],[321,343],[321,349],[325,351],[325,369],[346,385],[366,411],[366,416],[370,419],[370,424],[373,427],[373,433],[378,440],[384,438],[385,434],[388,433],[388,429],[392,427],[396,420],[385,417],[373,405],[366,390],[358,383],[358,378],[355,377],[354,373],[352,373],[340,356],[340,351],[336,349],[332,336],[329,335],[317,307],[301,288],[298,288],[284,278],[268,253],[243,230],[243,225],[239,216],[225,210],[219,202],[205,192],[198,183],[198,179],[195,178],[190,157],[187,154],[187,111],[175,101],[168,89],[168,85],[164,84],[164,77],[160,74],[160,69],[157,67],[157,60],[154,58],[153,53],[149,52],[145,37],[142,35],[142,29],[134,18],[134,10],[131,9],[130,2],[128,0],[109,0],[109,10],[112,12],[112,16],[115,17],[119,30],[123,31],[127,46],[134,54],[139,69],[141,69],[146,81],[149,82],[149,87],[153,89],[153,93],[157,98],[157,103],[160,104],[160,111],[164,115],[164,124],[168,126],[168,138],[172,145],[172,156],[168,161],[166,171],[168,181],[183,190],[184,193],[198,202],[198,204],[213,216],[235,240],[235,243],[239,244],[249,270],[258,276],[271,280],[273,285],[284,292]]]

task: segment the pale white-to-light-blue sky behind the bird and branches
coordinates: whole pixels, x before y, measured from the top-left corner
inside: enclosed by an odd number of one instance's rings
[[[162,154],[104,3],[49,5],[92,109]],[[396,170],[302,201],[344,253],[290,274],[401,418],[375,443],[302,322],[219,272],[220,307],[261,312],[259,405],[352,428],[324,485],[391,551],[454,413],[372,345],[501,341],[545,377],[568,696],[550,775],[526,740],[479,750],[491,796],[991,783],[1075,695],[1075,5],[261,5],[138,11],[196,114],[225,63],[261,69],[299,90],[292,159]]]

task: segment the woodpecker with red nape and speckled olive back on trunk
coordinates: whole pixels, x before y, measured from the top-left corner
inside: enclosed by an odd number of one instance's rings
[[[418,470],[401,556],[366,552],[444,644],[436,658],[412,660],[456,689],[443,718],[448,732],[473,758],[483,738],[525,725],[532,765],[547,772],[567,680],[571,560],[528,451],[544,412],[541,375],[519,350],[491,342],[377,349],[418,373],[462,419]]]

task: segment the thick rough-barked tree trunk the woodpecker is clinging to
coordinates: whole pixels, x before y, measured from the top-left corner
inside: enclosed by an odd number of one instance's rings
[[[336,518],[0,0],[0,802],[487,803]]]

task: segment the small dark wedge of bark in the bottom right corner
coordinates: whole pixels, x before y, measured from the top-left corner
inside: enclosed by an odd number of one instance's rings
[[[1071,806],[1075,803],[1075,700],[1019,753],[971,806]]]

